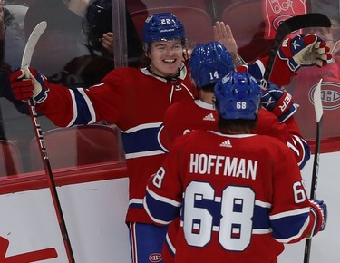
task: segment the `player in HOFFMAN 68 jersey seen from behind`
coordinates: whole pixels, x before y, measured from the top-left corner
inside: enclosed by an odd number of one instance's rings
[[[148,181],[151,219],[167,225],[180,216],[176,263],[276,263],[285,243],[325,229],[325,202],[307,199],[292,151],[251,133],[260,97],[248,73],[225,76],[215,87],[219,132],[175,139]]]

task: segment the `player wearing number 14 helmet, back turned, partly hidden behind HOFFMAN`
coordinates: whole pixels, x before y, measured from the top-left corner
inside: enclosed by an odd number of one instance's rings
[[[248,65],[248,73],[255,65]],[[234,71],[231,54],[219,42],[198,44],[192,51],[189,68],[199,99],[189,102],[176,102],[165,112],[164,131],[168,145],[193,129],[217,131],[217,112],[213,104],[214,85],[226,74]],[[244,70],[243,66],[237,70]],[[262,92],[263,107],[258,111],[257,125],[252,132],[277,137],[294,152],[296,161],[302,169],[310,158],[310,149],[294,120],[296,104],[291,95],[269,83]],[[280,110],[284,109],[284,110]]]

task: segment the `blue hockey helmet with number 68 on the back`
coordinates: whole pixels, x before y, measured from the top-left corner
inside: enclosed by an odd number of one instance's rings
[[[215,98],[224,120],[255,120],[261,100],[257,80],[248,73],[229,73],[216,83]]]

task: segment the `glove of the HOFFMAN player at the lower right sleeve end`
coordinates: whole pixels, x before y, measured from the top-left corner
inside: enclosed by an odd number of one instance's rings
[[[323,200],[316,200],[312,199],[309,200],[310,202],[310,212],[315,217],[315,223],[313,226],[313,229],[310,232],[310,235],[308,238],[313,237],[316,235],[318,231],[325,230],[325,225],[327,222],[327,206]]]

